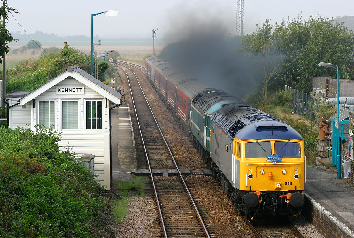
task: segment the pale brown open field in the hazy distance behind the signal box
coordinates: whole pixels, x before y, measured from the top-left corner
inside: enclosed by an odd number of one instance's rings
[[[21,54],[12,53],[12,50],[18,49],[26,44],[27,41],[17,41],[10,44],[10,52],[7,54],[7,68],[15,66],[18,61],[36,58],[42,55],[42,49],[26,50]],[[62,49],[64,42],[42,41],[41,44],[42,48],[56,46]],[[84,51],[87,55],[90,54],[90,42],[74,41],[68,42],[68,44],[70,47]],[[155,54],[158,55],[163,47],[163,44],[158,44],[158,42],[156,42]],[[145,56],[153,54],[152,42],[101,42],[101,45],[97,45],[93,49],[93,51],[97,52],[103,52],[105,50],[118,51],[121,58],[127,60],[142,60]]]

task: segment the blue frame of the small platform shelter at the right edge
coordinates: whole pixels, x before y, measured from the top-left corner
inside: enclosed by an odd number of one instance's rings
[[[339,123],[338,123],[338,113],[330,117],[330,121],[332,121],[332,165],[337,168],[339,166],[340,170],[342,171],[342,160],[343,160],[343,151],[342,148],[337,148],[336,143],[339,140],[339,146],[342,147],[342,140],[348,140],[348,124],[349,124],[349,112],[353,112],[354,109],[344,108],[343,110],[339,111]],[[338,126],[336,126],[336,123]],[[341,153],[341,159],[339,165],[336,163],[336,157],[338,154],[338,149]]]

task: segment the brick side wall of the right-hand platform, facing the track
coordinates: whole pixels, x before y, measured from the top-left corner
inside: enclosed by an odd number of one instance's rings
[[[354,237],[354,232],[306,193],[302,215],[326,238]]]

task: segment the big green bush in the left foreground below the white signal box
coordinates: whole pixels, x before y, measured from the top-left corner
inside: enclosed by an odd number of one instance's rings
[[[0,237],[102,237],[102,186],[52,129],[0,128]],[[105,221],[105,222],[104,222]]]

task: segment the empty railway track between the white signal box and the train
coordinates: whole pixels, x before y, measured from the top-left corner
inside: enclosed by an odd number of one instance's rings
[[[163,237],[210,237],[137,77],[124,64],[117,63],[127,74]],[[179,176],[153,176],[152,169],[176,169]]]

